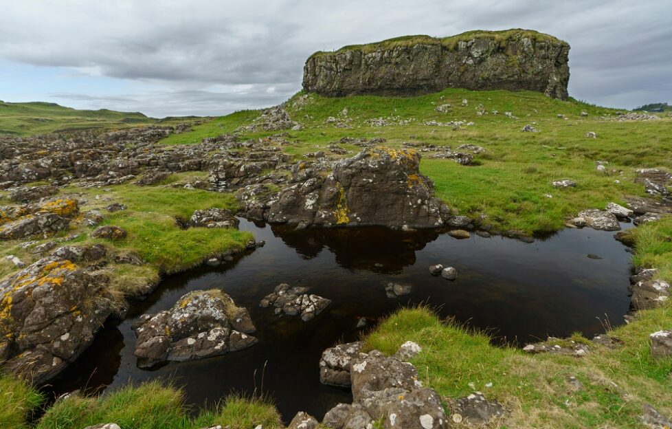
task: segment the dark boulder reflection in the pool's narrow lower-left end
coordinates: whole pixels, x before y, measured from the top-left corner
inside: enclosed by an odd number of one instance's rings
[[[116,326],[101,329],[88,349],[82,353],[76,364],[68,366],[65,371],[52,380],[47,386],[54,397],[69,393],[71,386],[85,386],[82,393],[95,393],[111,384],[119,371],[122,362],[121,351],[124,348],[124,336]],[[64,382],[64,380],[67,380]],[[53,398],[47,398],[53,399]]]

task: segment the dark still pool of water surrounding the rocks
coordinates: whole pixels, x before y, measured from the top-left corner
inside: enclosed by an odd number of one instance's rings
[[[601,320],[620,324],[629,306],[629,254],[612,232],[563,230],[528,244],[498,236],[457,240],[439,232],[383,228],[293,232],[245,221],[240,228],[265,240],[265,247],[220,267],[166,278],[122,322],[105,327],[52,382],[50,393],[161,377],[183,386],[190,404],[212,405],[229,393],[263,391],[284,419],[298,410],[321,417],[351,398],[344,389],[320,384],[320,354],[337,342],[356,340],[360,317],[377,320],[399,307],[426,303],[441,316],[522,344],[574,331],[592,336],[603,332]],[[427,268],[436,263],[456,267],[458,280],[431,276]],[[390,281],[411,283],[412,294],[387,298]],[[310,287],[333,303],[311,322],[278,318],[258,303],[279,283]],[[250,309],[258,344],[219,358],[138,369],[131,329],[135,319],[172,307],[191,290],[212,288],[223,289]]]

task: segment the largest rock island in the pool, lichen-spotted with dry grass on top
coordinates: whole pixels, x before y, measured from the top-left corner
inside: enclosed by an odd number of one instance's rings
[[[172,308],[142,316],[134,327],[138,366],[210,358],[251,347],[257,339],[237,331],[231,322],[239,312],[227,294],[213,289],[190,292]]]

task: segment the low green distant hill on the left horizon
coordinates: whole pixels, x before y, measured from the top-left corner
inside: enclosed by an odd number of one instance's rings
[[[49,102],[0,101],[0,134],[32,135],[82,129],[117,129],[154,124],[138,112],[77,110]]]

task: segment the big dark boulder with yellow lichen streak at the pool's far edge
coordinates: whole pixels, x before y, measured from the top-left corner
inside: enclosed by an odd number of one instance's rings
[[[306,170],[302,165],[297,175]],[[331,174],[311,173],[284,188],[263,209],[263,217],[303,226],[438,227],[449,209],[434,197],[434,184],[419,166],[414,150],[369,148],[336,162]]]

